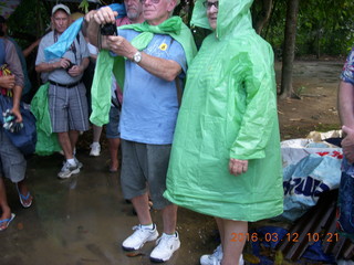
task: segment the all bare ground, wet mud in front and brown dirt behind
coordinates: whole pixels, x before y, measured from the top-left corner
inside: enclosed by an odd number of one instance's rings
[[[305,137],[311,130],[337,129],[336,91],[343,62],[302,61],[294,64],[294,89],[301,99],[279,102],[282,139]],[[280,78],[281,64],[275,64]],[[104,138],[104,137],[103,137]],[[29,186],[34,195],[30,209],[20,206],[12,183],[7,182],[9,204],[17,218],[0,233],[0,264],[150,264],[154,247],[146,244],[127,257],[122,241],[131,234],[137,219],[132,205],[121,193],[119,176],[107,171],[108,152],[103,140],[102,156],[88,157],[90,134],[81,138],[77,157],[84,163],[82,172],[70,180],[56,179],[62,157],[33,156],[29,159]],[[157,227],[162,219],[153,211]],[[257,227],[269,221],[251,224]],[[287,225],[287,224],[283,224]],[[179,210],[178,231],[181,248],[167,265],[197,265],[200,255],[218,244],[214,220]],[[249,245],[244,253],[250,253]]]

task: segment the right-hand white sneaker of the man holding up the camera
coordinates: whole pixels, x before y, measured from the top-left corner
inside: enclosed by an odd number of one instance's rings
[[[175,235],[163,233],[163,236],[156,241],[156,247],[150,254],[152,262],[167,262],[179,246],[180,241],[177,232]]]

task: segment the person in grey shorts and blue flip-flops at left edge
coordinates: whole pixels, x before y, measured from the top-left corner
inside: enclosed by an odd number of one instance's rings
[[[11,113],[15,116],[15,123],[22,121],[20,113],[20,100],[23,88],[23,73],[21,62],[17,55],[15,47],[12,42],[7,40],[0,22],[0,65],[7,64],[11,71],[11,75],[0,76],[0,87],[12,92],[12,109]],[[1,97],[4,95],[0,95]],[[1,103],[2,104],[2,100]],[[3,109],[3,106],[1,106]],[[22,152],[10,141],[4,132],[2,125],[0,126],[0,231],[4,231],[15,214],[11,213],[8,204],[6,186],[3,177],[15,183],[20,202],[23,208],[32,205],[32,195],[25,184],[27,161]]]

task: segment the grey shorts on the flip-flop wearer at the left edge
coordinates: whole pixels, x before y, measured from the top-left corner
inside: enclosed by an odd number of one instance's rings
[[[27,161],[2,128],[0,128],[0,177],[3,176],[13,183],[22,181],[25,177]]]

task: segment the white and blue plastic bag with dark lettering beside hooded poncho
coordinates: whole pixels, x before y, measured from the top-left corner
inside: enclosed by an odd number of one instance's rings
[[[295,221],[315,205],[322,192],[337,189],[341,180],[341,148],[311,139],[284,141],[282,146],[284,212]]]

